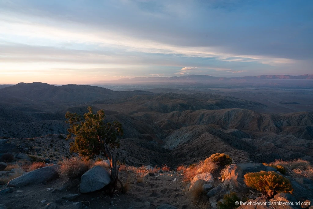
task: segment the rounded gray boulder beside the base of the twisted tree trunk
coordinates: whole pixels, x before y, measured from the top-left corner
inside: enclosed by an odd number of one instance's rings
[[[105,168],[95,166],[81,176],[80,192],[88,193],[102,189],[111,181],[110,174]]]

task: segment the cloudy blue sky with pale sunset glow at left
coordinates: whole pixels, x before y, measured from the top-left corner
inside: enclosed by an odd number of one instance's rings
[[[0,0],[0,84],[313,74],[313,1]]]

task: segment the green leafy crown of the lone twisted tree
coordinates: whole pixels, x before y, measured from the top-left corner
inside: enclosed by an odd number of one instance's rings
[[[83,116],[70,112],[65,114],[65,118],[68,119],[66,123],[70,125],[66,139],[70,139],[72,134],[75,135],[75,141],[70,143],[70,151],[92,158],[94,155],[105,153],[103,143],[119,147],[118,136],[123,134],[121,123],[116,121],[105,123],[103,110],[93,114],[92,107],[87,109],[89,112]]]

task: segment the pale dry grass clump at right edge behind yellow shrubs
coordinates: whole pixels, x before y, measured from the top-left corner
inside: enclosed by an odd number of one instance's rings
[[[286,170],[285,173],[293,178],[305,177],[313,180],[313,166],[306,160],[303,159],[294,159],[290,161],[275,160],[269,165],[272,167],[282,166]]]

